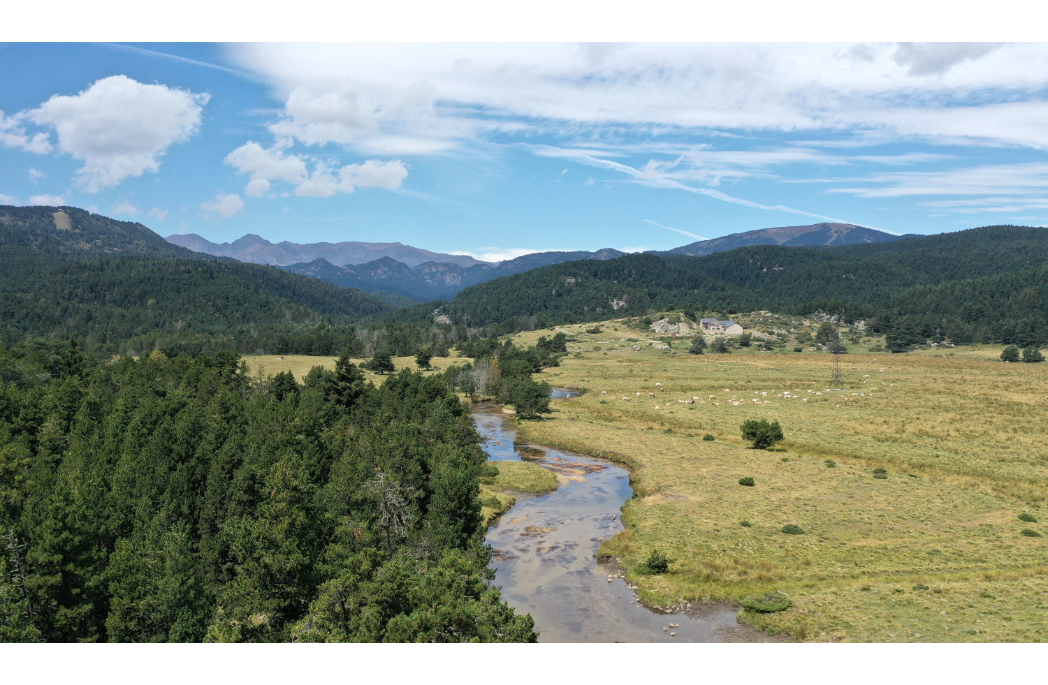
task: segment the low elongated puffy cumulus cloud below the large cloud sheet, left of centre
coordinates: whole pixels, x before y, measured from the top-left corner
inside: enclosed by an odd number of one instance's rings
[[[283,139],[271,148],[248,141],[225,157],[225,163],[241,174],[250,176],[244,193],[262,197],[271,190],[271,181],[294,185],[300,197],[331,197],[335,193],[352,193],[356,187],[400,187],[408,177],[408,168],[399,159],[369,159],[362,163],[339,167],[330,160],[286,152],[290,141]],[[311,169],[310,169],[311,167]]]

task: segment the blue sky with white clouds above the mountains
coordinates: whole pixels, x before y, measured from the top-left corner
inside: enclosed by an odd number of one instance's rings
[[[1048,224],[1048,44],[0,44],[0,203],[482,259]]]

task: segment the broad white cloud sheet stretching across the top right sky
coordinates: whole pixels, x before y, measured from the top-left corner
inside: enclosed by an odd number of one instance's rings
[[[234,59],[285,98],[275,133],[309,145],[371,136],[458,147],[489,131],[831,129],[942,135],[936,117],[984,105],[1044,107],[1048,44],[569,43],[238,44]],[[598,56],[598,57],[594,57]],[[910,120],[891,110],[934,111]],[[902,127],[902,125],[907,125]],[[902,127],[902,128],[899,128]],[[435,146],[439,149],[440,146]],[[445,147],[446,150],[446,147]]]

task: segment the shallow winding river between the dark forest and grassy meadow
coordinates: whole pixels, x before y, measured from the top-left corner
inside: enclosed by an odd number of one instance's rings
[[[575,395],[554,390],[551,396]],[[633,496],[625,468],[526,442],[499,405],[475,405],[473,417],[488,439],[489,459],[532,461],[558,473],[555,492],[518,495],[487,531],[495,583],[518,612],[531,614],[541,642],[721,642],[718,627],[739,625],[729,606],[711,607],[702,618],[665,614],[640,604],[625,580],[608,582],[610,571],[594,555],[623,530],[619,513]],[[662,631],[671,622],[680,627]]]

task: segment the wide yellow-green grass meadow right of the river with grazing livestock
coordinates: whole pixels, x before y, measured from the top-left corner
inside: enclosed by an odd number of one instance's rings
[[[791,609],[743,619],[810,641],[1048,640],[1048,537],[1020,532],[1048,535],[1048,363],[1002,363],[1002,347],[849,345],[846,390],[827,393],[826,353],[691,355],[681,340],[669,354],[625,323],[604,326],[555,329],[578,335],[569,351],[582,356],[542,378],[587,394],[520,429],[632,466],[626,530],[602,553],[627,568],[656,548],[676,558],[664,575],[631,574],[647,599],[781,591]],[[740,424],[750,418],[779,420],[785,441],[749,448]],[[739,485],[746,476],[755,487]],[[786,524],[806,533],[784,534]]]

